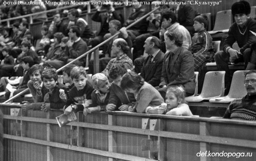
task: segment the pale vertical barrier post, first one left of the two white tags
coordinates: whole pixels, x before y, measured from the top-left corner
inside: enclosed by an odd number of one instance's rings
[[[115,125],[115,115],[108,114],[108,125]],[[116,133],[115,131],[108,131],[108,152],[116,152]],[[115,161],[115,158],[108,158],[108,161]]]

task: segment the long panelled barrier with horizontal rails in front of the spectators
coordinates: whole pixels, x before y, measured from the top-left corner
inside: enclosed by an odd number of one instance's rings
[[[256,122],[129,112],[96,112],[59,128],[61,110],[21,111],[0,104],[4,114],[3,161],[233,161],[256,160]],[[12,116],[11,116],[12,115]],[[249,153],[248,156],[246,156]],[[252,154],[252,155],[251,155]]]

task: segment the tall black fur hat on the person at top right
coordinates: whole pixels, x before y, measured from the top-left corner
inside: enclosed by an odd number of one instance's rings
[[[247,1],[239,1],[232,5],[231,7],[232,14],[250,14],[251,13],[251,7],[250,4]]]

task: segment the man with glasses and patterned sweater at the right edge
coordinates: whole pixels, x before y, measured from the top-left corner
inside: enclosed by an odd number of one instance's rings
[[[232,101],[223,118],[256,121],[256,71],[245,74],[247,95]]]

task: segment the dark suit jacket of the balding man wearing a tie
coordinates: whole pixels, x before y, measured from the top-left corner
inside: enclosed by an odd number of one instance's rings
[[[153,62],[151,62],[151,58],[149,56],[144,59],[143,66],[141,68],[141,77],[143,77],[144,80],[153,87],[160,84],[163,57],[164,53],[160,50],[155,55]]]

